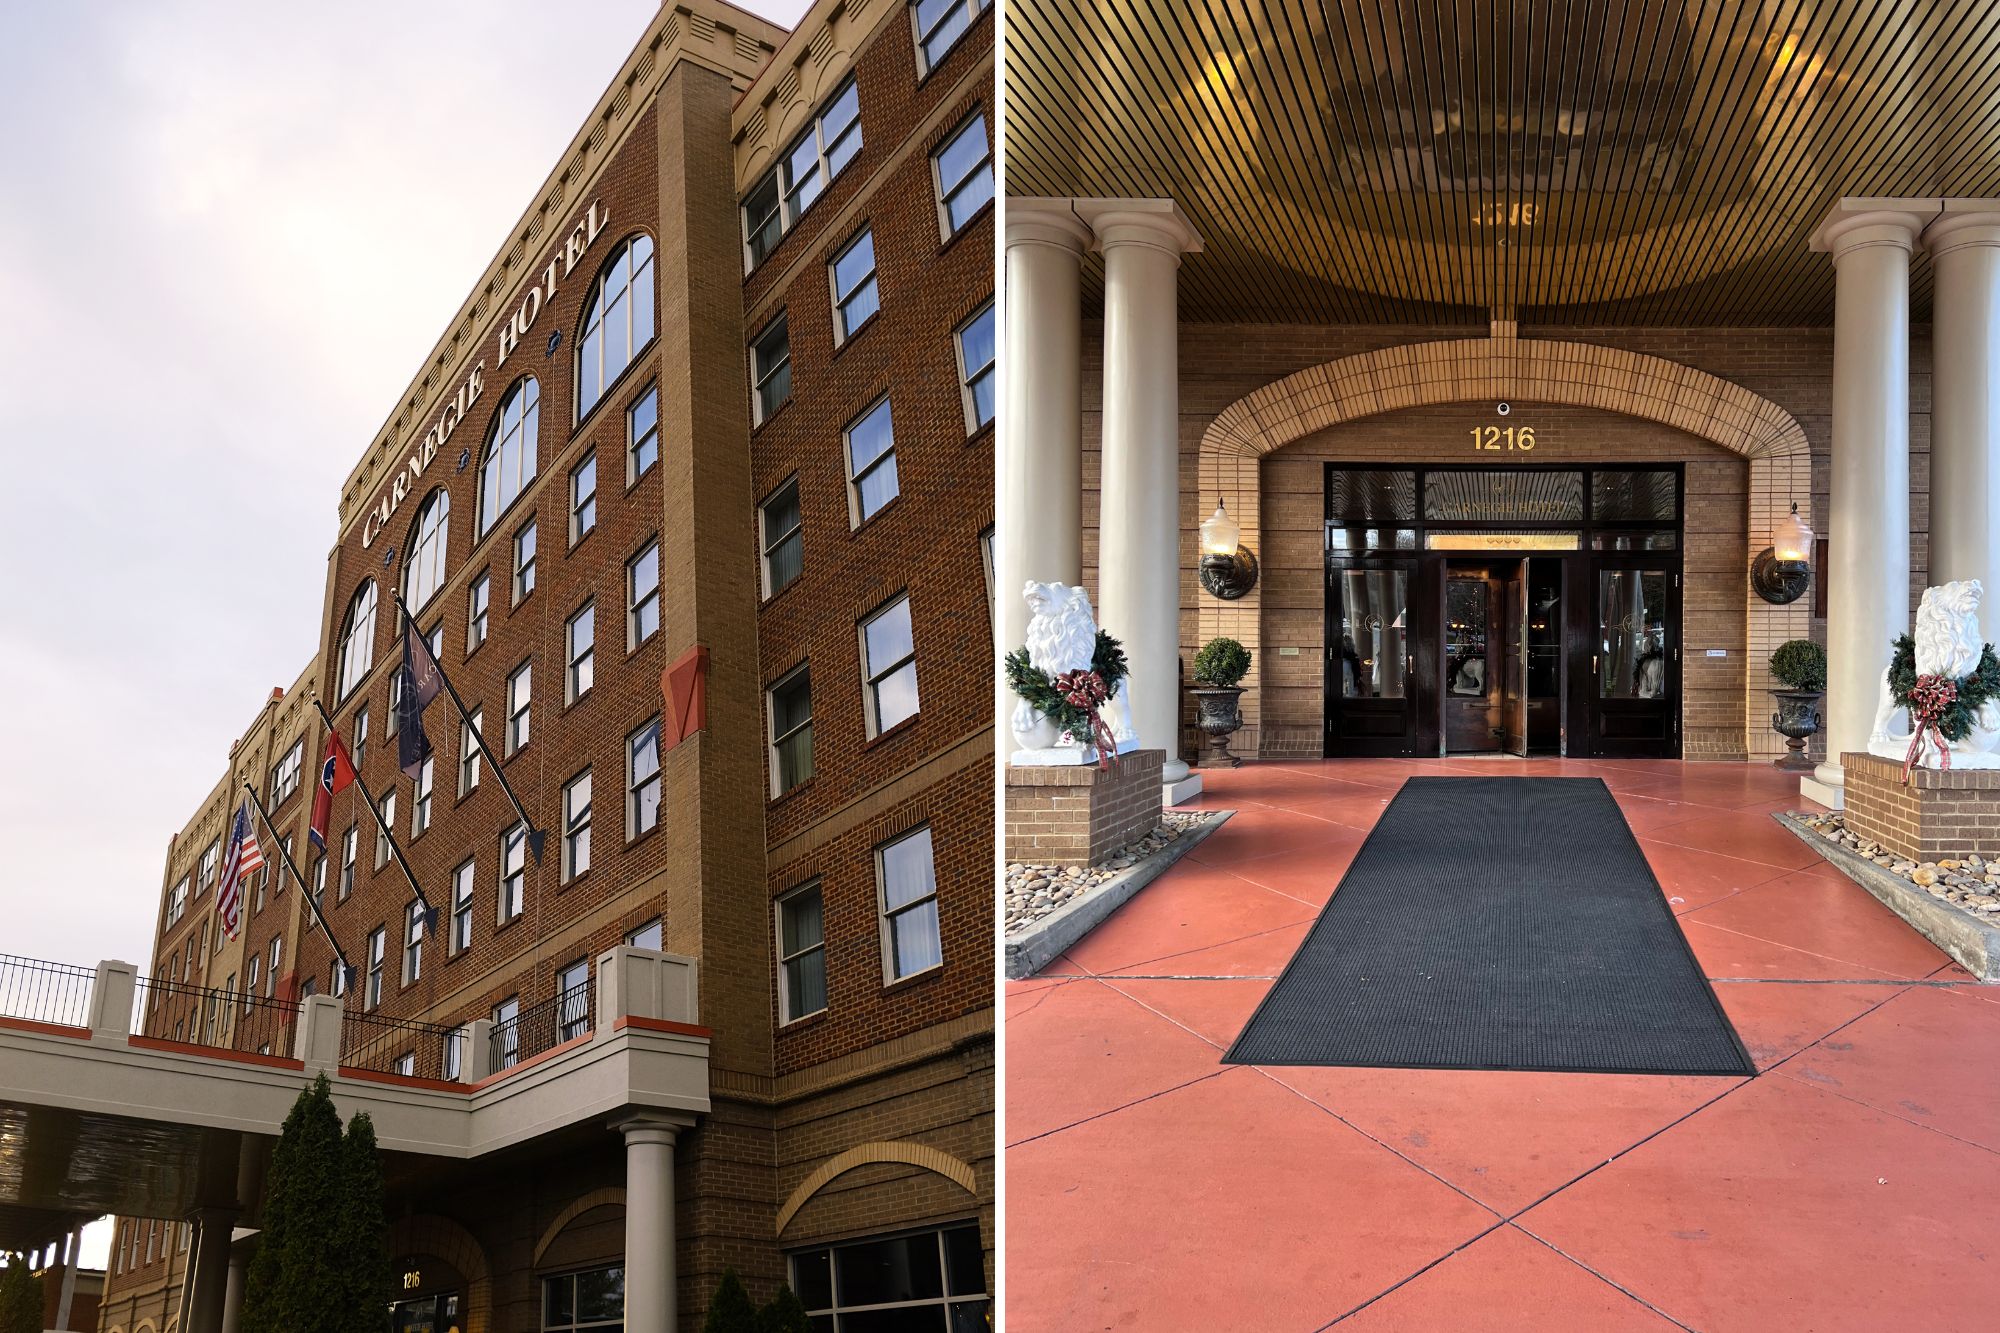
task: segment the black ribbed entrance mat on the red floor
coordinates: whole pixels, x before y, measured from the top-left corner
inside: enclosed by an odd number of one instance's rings
[[[1598,779],[1410,779],[1232,1065],[1752,1075]]]

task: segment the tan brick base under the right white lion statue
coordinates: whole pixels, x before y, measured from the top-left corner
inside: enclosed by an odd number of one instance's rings
[[[1852,833],[1910,861],[2000,853],[2000,769],[1914,769],[1880,755],[1842,755]]]

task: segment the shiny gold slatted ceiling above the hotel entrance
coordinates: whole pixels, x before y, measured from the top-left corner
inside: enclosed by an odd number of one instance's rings
[[[1178,200],[1190,320],[1828,324],[1806,242],[1834,200],[2000,194],[1996,0],[1008,0],[1006,24],[1008,192]],[[1928,294],[1920,260],[1918,318]]]

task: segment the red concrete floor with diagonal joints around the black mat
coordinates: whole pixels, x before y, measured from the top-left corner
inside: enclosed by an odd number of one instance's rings
[[[1756,1079],[1222,1065],[1410,775],[1602,777]],[[1006,1001],[1006,1327],[2000,1327],[2000,987],[1762,765],[1262,763]]]

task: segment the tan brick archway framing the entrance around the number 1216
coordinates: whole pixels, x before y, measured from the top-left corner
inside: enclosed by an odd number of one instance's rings
[[[1272,380],[1208,422],[1200,446],[1196,508],[1206,516],[1220,496],[1242,522],[1244,544],[1258,550],[1264,454],[1362,416],[1500,398],[1624,412],[1686,430],[1750,460],[1742,566],[1746,656],[1752,666],[1744,681],[1744,749],[1752,759],[1780,755],[1782,739],[1760,725],[1768,711],[1762,662],[1786,638],[1806,636],[1810,606],[1804,600],[1790,606],[1760,600],[1750,592],[1748,570],[1790,500],[1810,502],[1812,450],[1806,430],[1790,412],[1740,384],[1662,356],[1542,338],[1408,342],[1342,356]],[[1198,592],[1194,624],[1196,644],[1228,634],[1254,654],[1244,681],[1250,687],[1244,695],[1244,727],[1262,735],[1256,689],[1264,656],[1262,586],[1236,602]]]

